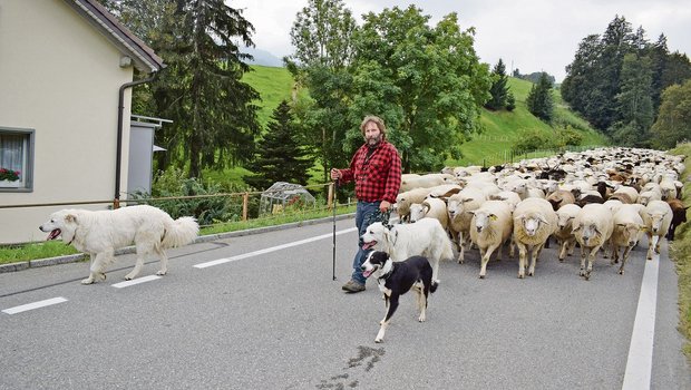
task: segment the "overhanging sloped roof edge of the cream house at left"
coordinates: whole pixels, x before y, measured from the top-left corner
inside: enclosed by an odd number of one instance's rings
[[[124,55],[130,57],[134,66],[146,74],[165,68],[163,58],[156,56],[154,49],[137,38],[129,29],[123,26],[104,6],[96,0],[65,0],[91,26],[100,31]]]

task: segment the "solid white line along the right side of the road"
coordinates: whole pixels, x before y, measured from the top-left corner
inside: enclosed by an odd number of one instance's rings
[[[658,304],[658,274],[660,256],[645,261],[639,308],[633,322],[633,333],[629,345],[626,371],[622,390],[650,389],[653,368],[653,341],[655,338],[655,310]]]

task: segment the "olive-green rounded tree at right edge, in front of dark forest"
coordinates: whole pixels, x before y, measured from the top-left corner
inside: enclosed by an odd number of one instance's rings
[[[660,113],[651,133],[653,147],[661,149],[691,140],[691,79],[662,92]]]

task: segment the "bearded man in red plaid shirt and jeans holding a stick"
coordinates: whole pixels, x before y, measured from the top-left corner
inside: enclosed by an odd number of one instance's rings
[[[401,185],[401,159],[398,150],[386,140],[387,127],[376,116],[367,116],[360,125],[364,137],[362,145],[352,157],[346,169],[331,169],[331,178],[342,183],[356,182],[356,226],[358,227],[358,253],[352,263],[351,280],[343,285],[349,293],[364,291],[367,277],[360,266],[364,263],[369,251],[362,250],[360,236],[367,227],[389,211],[396,202]]]

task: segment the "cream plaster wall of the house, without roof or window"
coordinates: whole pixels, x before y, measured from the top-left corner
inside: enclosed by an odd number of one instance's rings
[[[133,68],[119,67],[120,56],[64,0],[0,2],[0,126],[36,131],[33,191],[0,192],[0,205],[114,198],[118,89],[133,80]],[[127,90],[123,192],[129,101]],[[45,240],[38,226],[66,207],[0,208],[0,244]]]

